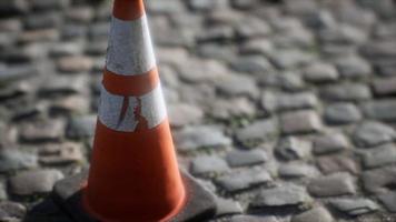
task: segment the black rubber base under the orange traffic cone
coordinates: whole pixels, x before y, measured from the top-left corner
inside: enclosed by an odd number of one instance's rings
[[[52,190],[53,201],[76,222],[98,222],[81,205],[81,186],[87,181],[87,172],[59,181]],[[185,208],[170,221],[195,222],[212,219],[216,214],[214,194],[204,189],[191,175],[181,172],[187,190]]]

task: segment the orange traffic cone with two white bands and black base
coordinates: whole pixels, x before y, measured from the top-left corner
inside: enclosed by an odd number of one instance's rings
[[[142,0],[115,0],[89,173],[58,182],[77,221],[201,221],[212,194],[180,173]]]

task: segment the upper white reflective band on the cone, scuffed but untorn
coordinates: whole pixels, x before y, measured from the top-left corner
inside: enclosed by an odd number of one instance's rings
[[[117,74],[142,74],[156,65],[146,14],[132,21],[112,17],[106,67]]]

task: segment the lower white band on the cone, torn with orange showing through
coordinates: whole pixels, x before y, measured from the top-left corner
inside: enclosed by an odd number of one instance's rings
[[[139,103],[139,114],[146,119],[149,129],[160,124],[167,117],[160,84],[142,97],[128,97],[128,107],[121,117],[123,100],[122,95],[111,94],[105,87],[101,88],[99,120],[115,131],[133,132],[136,130],[139,124],[138,117],[136,117]]]

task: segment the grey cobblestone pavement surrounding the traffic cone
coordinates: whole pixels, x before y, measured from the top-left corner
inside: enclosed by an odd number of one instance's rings
[[[0,221],[70,221],[48,194],[89,162],[98,2],[0,1]],[[396,221],[395,4],[147,1],[179,161],[217,221]]]

